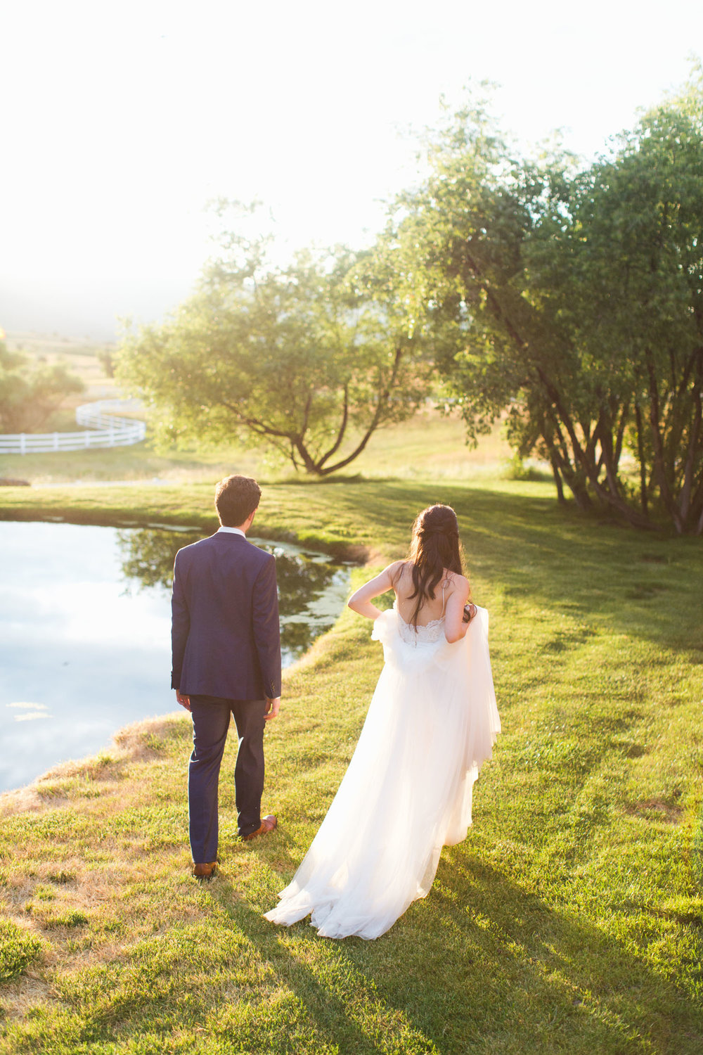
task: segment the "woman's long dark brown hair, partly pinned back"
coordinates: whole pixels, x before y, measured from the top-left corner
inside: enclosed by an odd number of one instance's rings
[[[414,588],[409,599],[417,598],[410,621],[416,627],[423,602],[434,600],[434,591],[442,581],[445,569],[457,575],[464,574],[456,514],[451,505],[428,505],[417,514],[412,525],[407,563],[410,564]]]

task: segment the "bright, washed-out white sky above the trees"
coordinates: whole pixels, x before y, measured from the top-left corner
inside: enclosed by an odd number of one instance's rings
[[[469,79],[592,155],[686,78],[703,2],[4,0],[0,47],[0,326],[109,337],[187,294],[213,197],[368,241]]]

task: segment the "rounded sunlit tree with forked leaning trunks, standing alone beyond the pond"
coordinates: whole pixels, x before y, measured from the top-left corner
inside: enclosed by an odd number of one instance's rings
[[[237,436],[334,473],[415,409],[418,333],[369,254],[300,252],[275,268],[263,242],[229,245],[170,320],[125,335],[118,376],[151,401],[163,439]]]

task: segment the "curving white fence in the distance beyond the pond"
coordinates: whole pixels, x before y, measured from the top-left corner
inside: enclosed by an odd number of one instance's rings
[[[101,399],[76,407],[76,424],[86,426],[80,433],[4,433],[0,434],[0,454],[28,455],[51,450],[84,450],[89,447],[128,447],[141,443],[147,422],[118,418],[116,410],[139,410],[136,399]]]

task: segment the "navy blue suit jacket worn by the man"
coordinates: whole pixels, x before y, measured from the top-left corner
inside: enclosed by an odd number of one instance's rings
[[[276,562],[241,535],[217,532],[176,554],[171,687],[184,695],[280,695]]]

